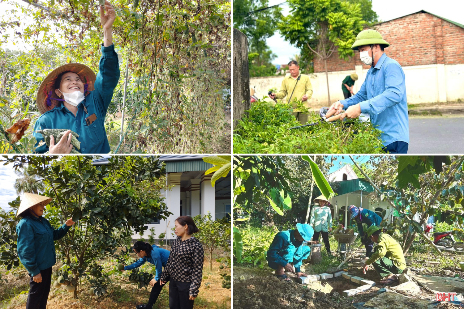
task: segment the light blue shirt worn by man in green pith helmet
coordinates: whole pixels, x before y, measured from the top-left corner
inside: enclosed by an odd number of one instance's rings
[[[386,54],[367,71],[358,93],[340,102],[344,109],[360,103],[361,113],[369,114],[372,124],[383,132],[384,146],[396,141],[409,144],[405,74],[400,63]]]

